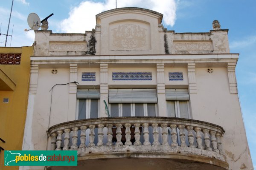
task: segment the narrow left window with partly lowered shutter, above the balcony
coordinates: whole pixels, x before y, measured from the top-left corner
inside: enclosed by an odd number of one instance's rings
[[[99,117],[99,90],[78,89],[76,105],[76,119],[90,119]]]

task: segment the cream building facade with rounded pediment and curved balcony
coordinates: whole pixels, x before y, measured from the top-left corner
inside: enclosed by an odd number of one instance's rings
[[[78,150],[78,167],[49,170],[253,169],[228,30],[162,18],[117,8],[85,34],[37,31],[23,150]]]

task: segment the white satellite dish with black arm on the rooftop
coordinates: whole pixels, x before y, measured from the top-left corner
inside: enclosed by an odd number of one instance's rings
[[[40,18],[38,17],[37,14],[30,13],[28,16],[28,24],[31,29],[29,29],[29,30],[37,31],[40,27],[42,28],[42,30],[47,30],[48,29],[47,19],[49,17],[51,17],[52,15],[53,15],[53,13],[50,14],[48,17],[44,18],[44,20],[40,21]],[[41,26],[41,23],[42,23],[42,26]],[[29,30],[25,29],[25,31],[29,31]]]

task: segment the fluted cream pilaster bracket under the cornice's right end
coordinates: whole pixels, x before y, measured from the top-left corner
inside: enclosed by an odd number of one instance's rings
[[[227,63],[227,75],[229,80],[229,86],[230,86],[230,93],[231,94],[237,94],[237,83],[236,83],[236,63],[235,62],[228,62]]]

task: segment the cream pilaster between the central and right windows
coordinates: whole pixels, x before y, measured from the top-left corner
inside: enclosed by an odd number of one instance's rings
[[[167,116],[166,113],[166,97],[165,97],[165,81],[164,81],[164,64],[157,63],[157,109],[159,116]],[[163,102],[159,102],[163,101]]]

